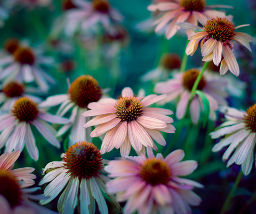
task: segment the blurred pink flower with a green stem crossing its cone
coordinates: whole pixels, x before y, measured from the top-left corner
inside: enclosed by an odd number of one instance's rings
[[[158,94],[167,94],[166,98],[161,101],[161,104],[173,101],[179,97],[179,103],[177,105],[176,117],[181,119],[185,116],[187,105],[189,102],[190,92],[193,88],[196,78],[199,75],[199,70],[190,69],[185,73],[178,73],[174,79],[170,79],[164,82],[157,83],[154,88],[154,92]],[[210,117],[215,119],[215,111],[219,109],[218,105],[227,105],[225,97],[227,93],[223,91],[226,86],[225,81],[221,80],[207,80],[202,76],[197,90],[202,90],[207,100],[210,103]],[[200,116],[201,100],[198,95],[193,97],[189,105],[190,117],[193,124],[197,124]]]

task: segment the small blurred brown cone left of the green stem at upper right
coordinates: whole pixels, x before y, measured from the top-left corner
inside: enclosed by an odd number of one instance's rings
[[[164,54],[161,57],[161,65],[168,70],[179,69],[181,59],[178,54]]]

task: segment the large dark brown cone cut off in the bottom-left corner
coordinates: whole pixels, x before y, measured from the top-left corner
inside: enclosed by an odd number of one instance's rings
[[[5,197],[11,207],[19,205],[22,200],[19,181],[11,172],[3,169],[0,169],[0,195]]]

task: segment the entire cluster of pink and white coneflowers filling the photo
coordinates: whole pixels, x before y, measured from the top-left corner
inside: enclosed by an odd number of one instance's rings
[[[21,2],[26,4],[30,1]],[[212,61],[212,68],[220,65],[220,75],[230,70],[238,76],[233,41],[251,51],[249,42],[253,39],[245,33],[236,32],[244,26],[235,27],[231,16],[213,10],[217,7],[230,8],[206,6],[204,0],[158,0],[149,5],[148,10],[156,13],[154,23],[151,23],[156,25],[155,31],[164,30],[167,39],[180,28],[186,29],[189,40],[187,55],[193,55],[200,44],[204,62]],[[75,37],[77,32],[88,36],[100,34],[103,30],[110,39],[123,41],[126,38],[120,23],[122,15],[106,0],[64,1],[63,8],[65,13],[54,23],[59,27],[52,31],[54,36],[65,34]],[[226,106],[228,94],[224,90],[227,81],[216,77],[216,72],[213,75],[209,70],[203,75],[206,67],[201,72],[196,68],[179,72],[179,57],[166,54],[158,68],[141,77],[142,81],[159,81],[154,92],[161,95],[135,96],[130,87],[125,87],[122,96],[116,100],[108,97],[106,90],[92,76],[82,75],[69,85],[66,94],[49,96],[43,101],[32,94],[45,93],[55,84],[55,80],[41,68],[41,64],[51,65],[54,60],[15,38],[6,40],[3,47],[0,53],[0,65],[3,67],[0,71],[3,83],[0,93],[0,148],[5,147],[5,153],[0,156],[0,207],[4,214],[54,213],[29,199],[39,200],[44,205],[60,193],[58,211],[62,214],[72,214],[75,209],[83,214],[94,213],[96,203],[100,213],[107,214],[109,211],[102,192],[119,210],[119,202],[127,201],[123,210],[127,214],[134,211],[140,214],[191,213],[190,205],[201,203],[193,189],[203,188],[203,185],[179,176],[190,175],[197,168],[197,162],[181,161],[185,156],[182,150],[175,150],[165,158],[161,153],[156,157],[153,153],[153,150],[157,151],[155,142],[166,145],[161,132],[175,133],[176,129],[172,125],[173,119],[167,116],[173,114],[171,110],[149,106],[169,103],[177,97],[179,102],[175,114],[178,119],[185,117],[189,110],[191,121],[198,124],[201,109],[206,111],[202,96],[209,102],[210,119],[216,119],[217,110],[225,114],[227,121],[213,131],[211,137],[226,136],[213,147],[213,151],[230,144],[223,160],[236,149],[228,166],[234,162],[242,164],[244,175],[250,173],[256,142],[256,104],[247,112]],[[161,81],[169,77],[169,71],[173,69],[176,69],[173,78]],[[34,84],[34,87],[29,84]],[[201,95],[196,94],[196,90],[201,91]],[[56,115],[47,112],[53,106],[59,106]],[[69,118],[64,117],[67,113]],[[63,126],[56,130],[50,124]],[[62,161],[50,162],[43,169],[45,176],[39,185],[50,183],[43,195],[29,194],[39,189],[27,188],[35,183],[33,179],[36,176],[31,174],[34,168],[13,169],[25,144],[30,157],[35,161],[39,158],[31,126],[35,126],[47,142],[58,148],[60,137],[68,138],[69,147],[61,155]],[[92,129],[93,126],[96,127]],[[91,143],[94,137],[102,139],[100,150]],[[137,152],[137,157],[129,156],[131,147]],[[114,148],[120,149],[122,158],[103,160],[101,155]]]

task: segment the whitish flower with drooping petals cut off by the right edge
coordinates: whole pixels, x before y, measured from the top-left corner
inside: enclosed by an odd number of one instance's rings
[[[220,151],[224,146],[228,149],[222,159],[228,160],[227,167],[234,162],[242,164],[244,175],[252,170],[253,150],[256,142],[256,104],[250,106],[247,111],[239,111],[235,108],[223,106],[220,111],[225,114],[227,121],[217,127],[218,130],[210,133],[213,139],[225,136],[219,143],[213,146],[212,151]]]

